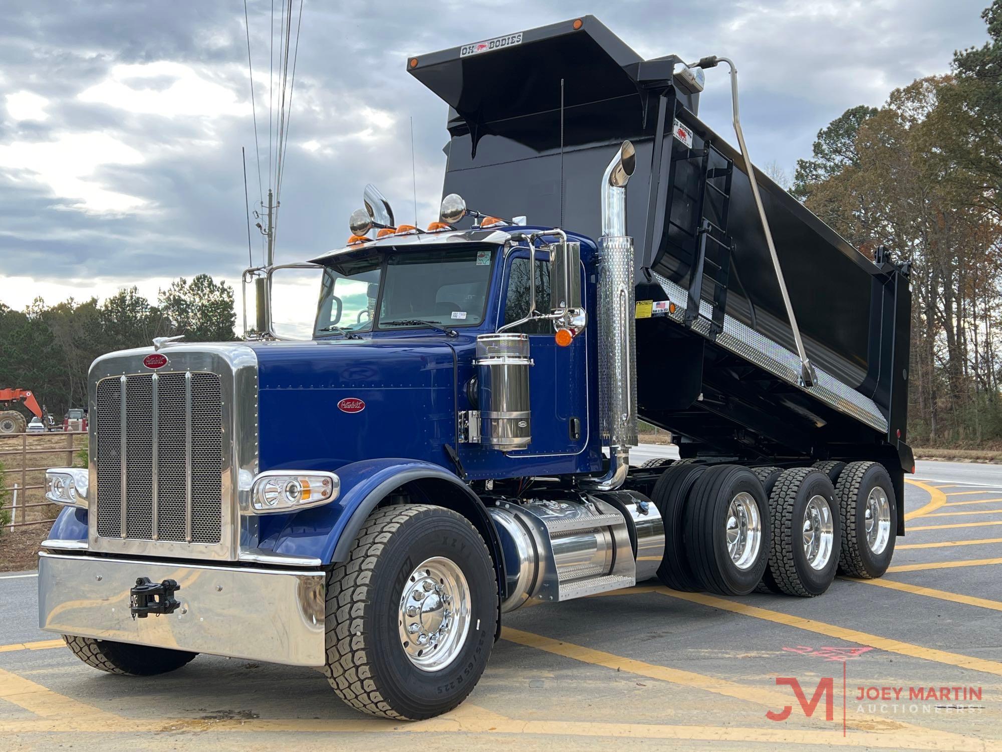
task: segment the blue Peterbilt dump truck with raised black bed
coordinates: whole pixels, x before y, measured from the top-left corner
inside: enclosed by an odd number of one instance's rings
[[[697,116],[720,66],[736,148]],[[585,16],[405,68],[449,105],[440,217],[367,187],[302,262],[308,341],[273,331],[271,265],[245,341],[94,362],[89,467],[47,476],[42,629],[113,674],[311,666],[423,719],[526,604],[883,575],[909,267],[752,166],[731,61],[645,60]],[[681,459],[631,466],[638,419]]]

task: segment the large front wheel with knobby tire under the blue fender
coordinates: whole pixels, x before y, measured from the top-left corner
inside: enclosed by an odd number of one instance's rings
[[[328,681],[370,715],[447,713],[487,665],[497,599],[490,553],[465,517],[427,504],[376,509],[328,577]]]

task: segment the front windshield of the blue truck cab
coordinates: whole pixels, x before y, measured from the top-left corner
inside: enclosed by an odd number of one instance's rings
[[[371,331],[377,300],[377,329],[476,326],[484,319],[493,258],[481,247],[342,261],[339,271],[324,272],[314,336]]]

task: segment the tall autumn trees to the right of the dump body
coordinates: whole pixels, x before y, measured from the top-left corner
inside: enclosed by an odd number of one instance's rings
[[[1002,439],[1002,0],[982,18],[990,41],[955,52],[949,74],[822,129],[791,189],[863,253],[913,263],[917,446]]]

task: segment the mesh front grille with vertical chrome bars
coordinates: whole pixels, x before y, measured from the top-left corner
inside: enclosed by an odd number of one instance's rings
[[[98,535],[219,543],[219,375],[106,378],[96,406]]]

